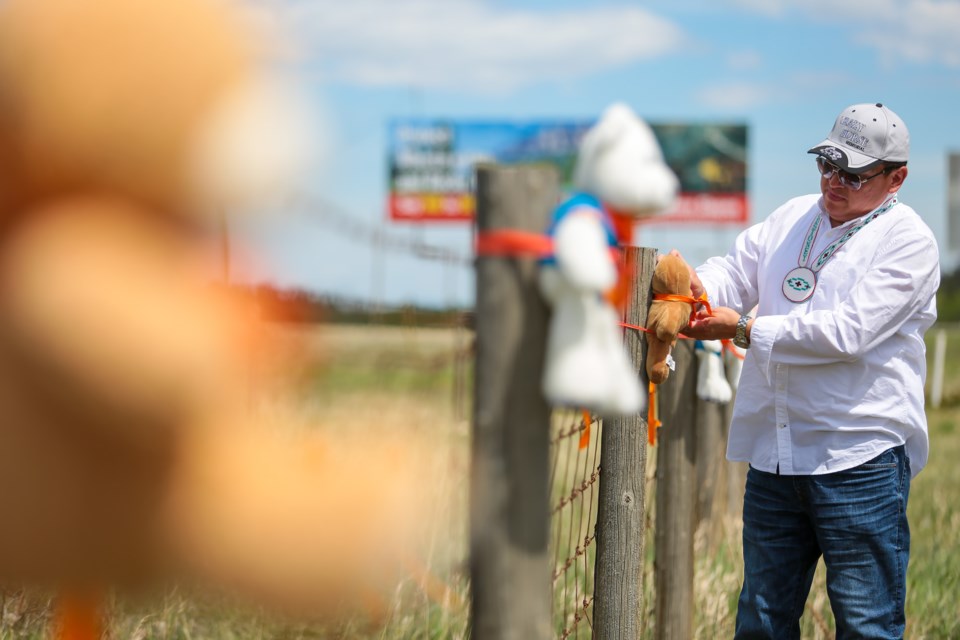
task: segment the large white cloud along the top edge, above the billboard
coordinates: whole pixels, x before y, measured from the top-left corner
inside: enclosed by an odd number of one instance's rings
[[[277,2],[302,59],[338,81],[503,91],[663,56],[681,29],[630,6],[534,12],[479,0]]]

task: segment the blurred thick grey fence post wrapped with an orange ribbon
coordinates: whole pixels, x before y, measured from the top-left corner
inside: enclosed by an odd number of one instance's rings
[[[559,201],[547,166],[477,170],[477,227],[543,233]],[[536,260],[477,260],[476,377],[470,481],[472,637],[553,636],[550,407],[540,382],[548,311]]]

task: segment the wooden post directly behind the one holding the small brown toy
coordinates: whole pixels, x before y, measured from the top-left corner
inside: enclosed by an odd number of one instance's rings
[[[677,368],[658,390],[654,544],[657,640],[693,637],[693,533],[697,503],[697,371],[693,340],[673,348]]]

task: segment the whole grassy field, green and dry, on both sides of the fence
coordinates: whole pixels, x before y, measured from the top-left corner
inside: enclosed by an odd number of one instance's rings
[[[910,496],[912,554],[908,573],[908,638],[960,637],[960,328],[948,333],[944,405],[928,412],[930,463]],[[326,624],[291,624],[222,602],[171,591],[134,602],[111,600],[110,637],[146,639],[359,638],[383,640],[469,637],[467,482],[469,474],[470,336],[464,331],[325,326],[278,328],[298,367],[278,380],[294,393],[317,428],[402,423],[435,443],[429,464],[443,499],[430,514],[427,566],[398,584],[389,613]],[[932,349],[931,349],[932,353]],[[458,357],[459,354],[459,357]],[[401,420],[397,418],[401,417]],[[647,542],[648,576],[653,538]],[[736,526],[716,550],[698,547],[695,577],[696,637],[732,637],[739,591]],[[831,638],[832,616],[822,567],[803,619],[804,638]],[[647,580],[648,607],[655,594]],[[44,638],[48,594],[3,592],[0,640]],[[647,616],[646,637],[652,637]],[[577,636],[589,637],[581,625]]]

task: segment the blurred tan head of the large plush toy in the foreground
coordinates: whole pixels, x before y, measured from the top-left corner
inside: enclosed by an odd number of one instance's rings
[[[225,159],[256,158],[249,137],[258,131],[291,137],[277,124],[289,119],[265,113],[275,104],[252,88],[255,53],[238,16],[215,0],[9,0],[0,8],[0,206],[77,191],[179,214],[230,204],[231,188],[259,183],[276,164]],[[277,160],[269,140],[256,142]],[[236,167],[246,175],[221,175]]]

